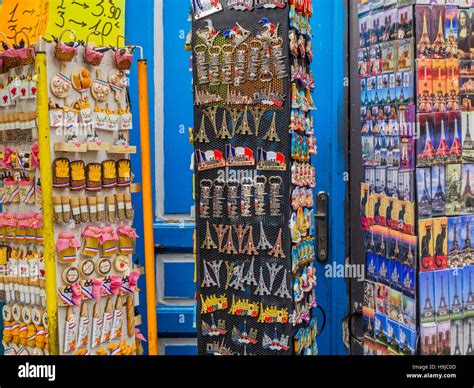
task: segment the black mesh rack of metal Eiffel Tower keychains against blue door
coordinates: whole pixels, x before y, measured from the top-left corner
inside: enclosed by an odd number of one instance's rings
[[[317,354],[311,1],[193,4],[199,353]]]

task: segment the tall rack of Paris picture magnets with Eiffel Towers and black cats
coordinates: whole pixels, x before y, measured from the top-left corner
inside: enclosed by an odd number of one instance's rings
[[[359,5],[366,354],[473,354],[473,11]]]

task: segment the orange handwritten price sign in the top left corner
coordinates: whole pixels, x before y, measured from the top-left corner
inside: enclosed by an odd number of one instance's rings
[[[3,0],[0,31],[10,41],[13,42],[21,31],[28,35],[31,43],[35,43],[44,35],[47,24],[48,0]]]

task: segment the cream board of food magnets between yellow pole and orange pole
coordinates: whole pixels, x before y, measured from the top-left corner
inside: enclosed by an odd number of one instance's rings
[[[61,354],[136,352],[126,69],[46,44]],[[128,61],[129,59],[127,59]],[[127,66],[128,67],[128,64]]]

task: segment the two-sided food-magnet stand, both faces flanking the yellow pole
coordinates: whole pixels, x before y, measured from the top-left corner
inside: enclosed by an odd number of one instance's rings
[[[0,36],[6,354],[48,354],[35,51],[46,53],[49,88],[42,92],[49,96],[59,354],[137,354],[142,271],[133,260],[136,147],[127,91],[134,47],[126,39],[100,47],[82,38],[65,30],[31,46],[21,34],[16,42]]]

